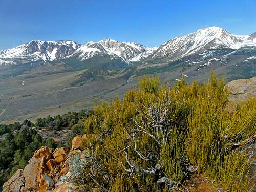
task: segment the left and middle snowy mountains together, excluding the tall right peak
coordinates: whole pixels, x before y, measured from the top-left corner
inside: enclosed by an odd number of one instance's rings
[[[74,41],[30,41],[18,47],[0,51],[0,65],[15,65],[33,61],[54,61],[77,57],[80,61],[97,57],[121,59],[125,63],[140,61],[155,49],[134,42],[105,39],[80,45]]]

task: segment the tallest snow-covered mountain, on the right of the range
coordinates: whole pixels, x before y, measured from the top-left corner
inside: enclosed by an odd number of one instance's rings
[[[256,47],[254,36],[253,34],[247,36],[232,35],[219,27],[203,28],[165,42],[148,59],[165,58],[168,61],[173,61],[209,49]]]

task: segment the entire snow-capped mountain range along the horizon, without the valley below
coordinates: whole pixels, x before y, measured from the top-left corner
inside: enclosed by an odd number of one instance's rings
[[[18,47],[0,51],[0,65],[19,63],[51,62],[56,60],[119,62],[130,65],[141,61],[174,61],[188,55],[214,49],[255,49],[256,33],[233,35],[220,27],[199,29],[194,33],[173,38],[159,47],[148,48],[134,42],[119,42],[105,39],[81,45],[74,41],[32,40]]]

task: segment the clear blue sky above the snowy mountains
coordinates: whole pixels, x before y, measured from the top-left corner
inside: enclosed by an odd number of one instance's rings
[[[159,46],[199,28],[256,31],[255,0],[0,0],[0,49],[30,40],[112,38]]]

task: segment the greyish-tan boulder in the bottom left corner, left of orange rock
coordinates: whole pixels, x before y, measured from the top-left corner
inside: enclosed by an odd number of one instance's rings
[[[25,191],[25,177],[23,170],[18,169],[16,173],[3,185],[3,192],[23,192]]]

